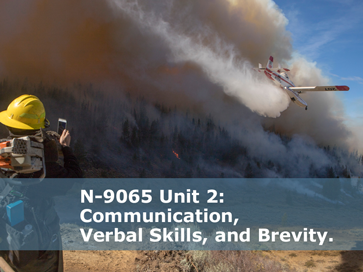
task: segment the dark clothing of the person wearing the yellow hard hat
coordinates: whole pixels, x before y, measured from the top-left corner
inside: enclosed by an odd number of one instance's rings
[[[19,133],[19,131],[16,132],[16,134]],[[42,133],[42,131],[40,132]],[[23,133],[29,132],[24,131]],[[23,133],[21,134],[24,135]],[[54,209],[53,197],[66,194],[76,181],[70,178],[82,178],[82,171],[79,167],[77,158],[68,146],[61,147],[64,157],[64,166],[59,164],[57,147],[59,143],[54,135],[57,134],[47,132],[41,136],[44,144],[46,178],[41,183],[35,185],[14,187],[16,191],[24,194],[27,199],[26,205],[32,209],[32,213],[30,214],[26,214],[25,211],[25,218],[27,215],[28,217],[32,217],[31,220],[35,218],[34,221],[36,223],[33,227],[39,233],[37,242],[42,245],[42,248],[46,248],[44,245],[49,244],[47,247],[48,250],[7,250],[1,252],[0,254],[15,271],[63,271],[63,254],[61,251],[62,241],[60,236],[59,217]],[[14,136],[15,135],[11,133],[11,137]],[[26,175],[20,177],[26,178]],[[57,178],[65,178],[67,180],[59,182],[57,181]],[[5,186],[5,182],[0,180],[0,192],[5,188]],[[2,215],[0,216],[0,249],[3,249],[2,244],[7,242],[8,232],[5,230],[5,221],[2,219]],[[9,227],[7,226],[7,228]]]

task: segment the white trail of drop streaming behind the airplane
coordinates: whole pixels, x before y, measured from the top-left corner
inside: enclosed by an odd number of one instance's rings
[[[170,1],[161,14],[145,11],[141,1],[110,0],[120,11],[128,14],[145,31],[150,31],[164,40],[172,52],[175,63],[196,63],[213,82],[223,87],[224,92],[238,99],[262,116],[278,117],[289,105],[286,93],[271,85],[264,78],[258,78],[252,66],[237,53],[233,44],[223,41],[217,33],[205,26],[197,25],[198,35],[194,37],[180,32],[188,18],[173,18]],[[160,10],[159,10],[160,11]],[[169,18],[165,21],[163,18]],[[191,19],[189,19],[191,20]],[[176,22],[175,22],[176,21]],[[185,27],[185,26],[184,26]],[[208,43],[206,43],[208,41]]]

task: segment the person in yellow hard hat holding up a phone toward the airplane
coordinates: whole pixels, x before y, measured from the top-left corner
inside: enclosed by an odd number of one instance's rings
[[[82,171],[77,158],[71,148],[71,135],[64,130],[62,135],[55,132],[45,131],[49,127],[49,121],[45,118],[43,103],[34,95],[21,95],[12,101],[7,110],[0,112],[0,122],[5,125],[10,138],[29,136],[44,144],[44,159],[46,179],[42,182],[29,186],[16,186],[5,197],[0,198],[0,249],[1,255],[15,271],[63,271],[62,242],[60,238],[59,217],[54,209],[53,196],[65,194],[75,181],[70,178],[81,178]],[[58,146],[64,156],[64,166],[58,162]],[[20,174],[17,178],[35,178],[34,174]],[[47,180],[52,178],[52,180]],[[65,178],[57,182],[54,178]],[[0,196],[6,182],[0,180]],[[15,192],[15,193],[14,193]],[[4,192],[3,192],[4,193]],[[13,194],[13,195],[12,195]],[[16,232],[4,220],[6,200],[21,198],[24,201],[24,215],[31,217],[28,221],[33,222],[36,230],[36,239],[42,250],[24,251],[21,248],[11,248],[7,245],[9,236]],[[2,201],[1,201],[2,200]],[[28,210],[31,209],[32,212]],[[5,231],[6,230],[6,231]],[[20,238],[19,238],[20,237]],[[21,239],[23,236],[14,235],[10,239]],[[17,244],[24,244],[17,241]]]

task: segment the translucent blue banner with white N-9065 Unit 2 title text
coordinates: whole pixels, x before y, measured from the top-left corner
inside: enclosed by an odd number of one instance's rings
[[[73,181],[54,197],[63,249],[363,250],[359,178]]]

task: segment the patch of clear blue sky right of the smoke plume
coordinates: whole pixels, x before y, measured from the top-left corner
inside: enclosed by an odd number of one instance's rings
[[[274,0],[289,20],[294,49],[317,63],[334,85],[350,122],[363,121],[363,1]]]

